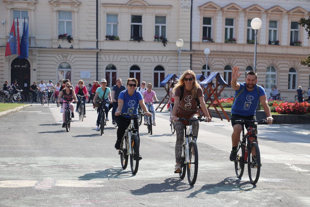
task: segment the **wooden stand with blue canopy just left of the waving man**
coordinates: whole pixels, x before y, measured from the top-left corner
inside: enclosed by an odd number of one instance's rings
[[[214,79],[216,81],[215,84],[212,82]],[[218,109],[216,108],[217,106],[219,106],[221,108],[221,110],[223,111],[224,116],[226,117],[226,119],[229,122],[230,120],[229,120],[229,118],[228,118],[222,104],[220,103],[219,98],[218,98],[219,94],[221,94],[221,92],[224,90],[224,88],[226,86],[228,86],[228,84],[222,78],[222,76],[219,74],[219,72],[210,73],[210,75],[205,80],[201,81],[199,84],[200,84],[201,88],[204,88],[204,90],[205,90],[204,93],[207,96],[206,101],[205,101],[206,104],[208,105],[207,108],[209,109],[210,106],[213,106],[216,113],[219,115],[219,118],[221,120],[223,120]],[[220,89],[220,91],[218,91],[219,87],[222,87]],[[216,101],[216,103],[214,103],[215,101]]]

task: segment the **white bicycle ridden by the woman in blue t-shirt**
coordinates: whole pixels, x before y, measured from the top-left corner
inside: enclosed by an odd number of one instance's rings
[[[130,124],[126,129],[126,132],[122,138],[121,149],[118,151],[118,154],[121,156],[122,168],[126,169],[128,164],[128,156],[130,155],[130,167],[131,173],[136,174],[139,168],[139,139],[138,139],[138,130],[134,128],[134,119],[136,116],[144,114],[128,114],[122,113],[120,116],[129,115],[131,116]]]

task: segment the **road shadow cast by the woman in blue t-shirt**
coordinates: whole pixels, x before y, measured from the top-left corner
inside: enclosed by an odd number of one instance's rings
[[[111,178],[111,179],[121,179],[121,178],[130,178],[135,176],[126,169],[122,168],[108,168],[105,170],[98,170],[95,173],[87,173],[81,177],[79,180],[92,180],[92,179],[102,179],[102,178]]]

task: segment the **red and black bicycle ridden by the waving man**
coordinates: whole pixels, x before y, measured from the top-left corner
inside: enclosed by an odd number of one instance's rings
[[[244,134],[244,127],[242,126],[242,140],[239,141],[237,148],[237,157],[235,161],[235,171],[238,178],[241,178],[244,171],[244,164],[248,164],[248,174],[250,182],[254,185],[257,183],[260,174],[260,152],[257,144],[257,126],[258,124],[268,124],[266,119],[254,121],[246,119],[233,119],[238,124],[249,124]],[[251,139],[251,138],[252,139]],[[253,140],[254,139],[254,140]]]

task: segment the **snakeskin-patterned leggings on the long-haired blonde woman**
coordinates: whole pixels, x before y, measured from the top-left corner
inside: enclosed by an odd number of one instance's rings
[[[197,119],[198,115],[194,114],[191,119]],[[193,122],[193,135],[198,138],[199,122]],[[184,124],[182,122],[175,122],[176,142],[175,142],[175,162],[181,162],[182,147],[184,142]]]

